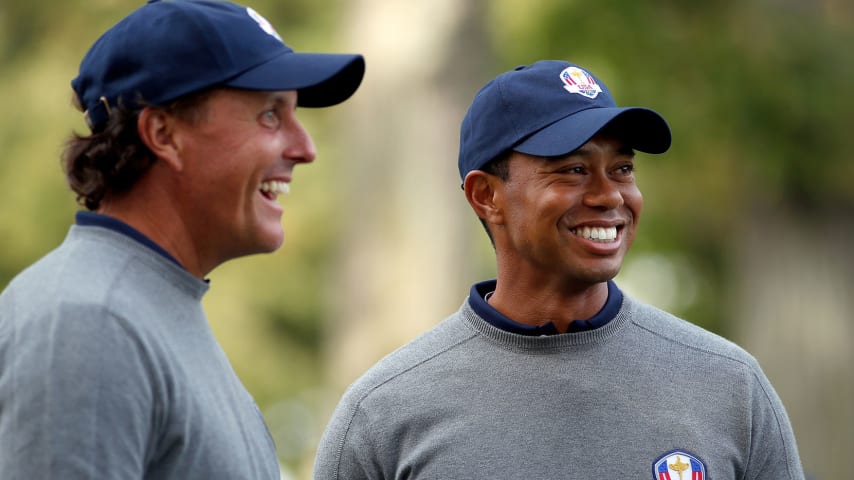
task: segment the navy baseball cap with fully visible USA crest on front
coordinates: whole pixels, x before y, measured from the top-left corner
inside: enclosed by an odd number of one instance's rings
[[[641,152],[670,148],[670,127],[658,113],[618,107],[608,88],[578,65],[543,60],[505,72],[477,93],[460,128],[460,177],[508,150],[566,155],[618,120]]]

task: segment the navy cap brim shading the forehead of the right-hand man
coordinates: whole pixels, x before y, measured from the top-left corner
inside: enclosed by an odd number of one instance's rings
[[[670,127],[661,115],[647,108],[611,107],[564,117],[525,138],[513,150],[542,157],[566,155],[612,122],[618,127],[615,131],[635,150],[664,153],[670,148]]]

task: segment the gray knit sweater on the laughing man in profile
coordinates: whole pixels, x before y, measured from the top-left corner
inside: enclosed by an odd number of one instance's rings
[[[202,311],[207,284],[74,226],[0,297],[0,477],[278,479]]]

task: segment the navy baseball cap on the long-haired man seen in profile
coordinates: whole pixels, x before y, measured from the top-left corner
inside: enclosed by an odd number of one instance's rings
[[[121,100],[163,105],[208,87],[296,90],[298,105],[343,102],[365,72],[361,55],[296,53],[255,10],[210,0],[149,0],[107,30],[71,87],[93,131]]]

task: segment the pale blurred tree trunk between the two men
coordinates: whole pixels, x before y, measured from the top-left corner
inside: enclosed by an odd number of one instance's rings
[[[459,125],[491,55],[482,1],[360,0],[351,40],[365,80],[342,144],[347,204],[332,295],[330,383],[339,388],[456,310],[473,229],[460,190]],[[485,239],[484,234],[484,239]]]

